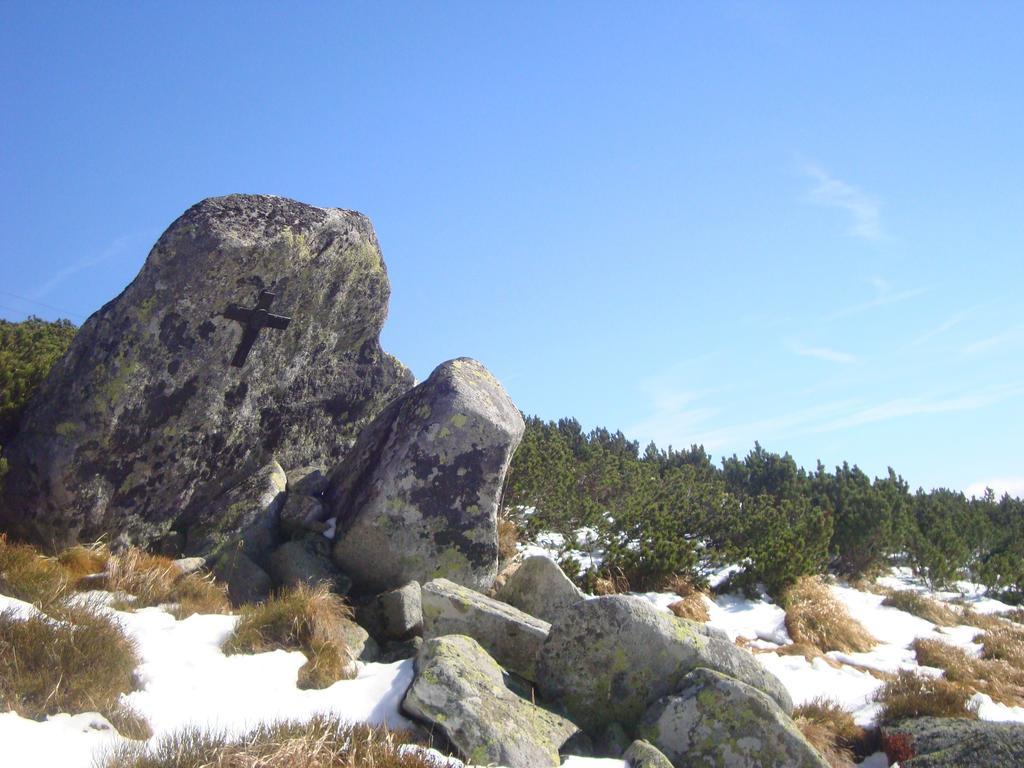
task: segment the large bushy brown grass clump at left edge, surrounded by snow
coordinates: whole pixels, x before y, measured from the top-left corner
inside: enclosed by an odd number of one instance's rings
[[[134,688],[134,642],[95,607],[72,606],[55,617],[0,612],[0,709],[41,720],[60,712],[98,712],[122,735],[148,727],[120,703]]]

